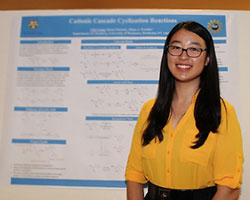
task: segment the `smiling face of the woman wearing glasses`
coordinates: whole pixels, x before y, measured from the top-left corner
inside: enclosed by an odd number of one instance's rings
[[[174,46],[172,47],[174,49],[207,48],[205,41],[200,36],[185,29],[177,31],[172,36],[169,46]],[[173,56],[168,52],[167,56],[169,70],[176,82],[200,83],[200,74],[209,62],[206,51],[202,51],[201,55],[196,58],[189,57],[186,51],[179,56]]]

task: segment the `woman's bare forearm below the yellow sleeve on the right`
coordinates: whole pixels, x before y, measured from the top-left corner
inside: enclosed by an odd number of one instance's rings
[[[217,192],[212,200],[237,200],[240,189],[231,189],[227,186],[217,185]]]

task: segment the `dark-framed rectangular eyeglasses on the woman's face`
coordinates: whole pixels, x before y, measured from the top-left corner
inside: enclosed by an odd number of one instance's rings
[[[184,49],[178,46],[167,46],[167,50],[168,53],[172,56],[180,56],[183,54],[183,51],[186,51],[188,57],[197,58],[201,55],[203,51],[206,51],[207,49],[195,48],[195,47],[189,47]]]

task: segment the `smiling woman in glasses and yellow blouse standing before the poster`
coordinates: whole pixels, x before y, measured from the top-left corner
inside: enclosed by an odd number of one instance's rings
[[[177,24],[162,56],[156,99],[143,105],[126,169],[127,199],[233,200],[242,183],[242,141],[231,104],[220,97],[210,33]]]

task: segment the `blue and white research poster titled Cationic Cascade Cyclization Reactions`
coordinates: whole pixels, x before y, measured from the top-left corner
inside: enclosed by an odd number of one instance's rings
[[[233,15],[122,13],[13,17],[1,185],[125,187],[138,114],[181,21],[210,31],[222,96],[237,104]]]

